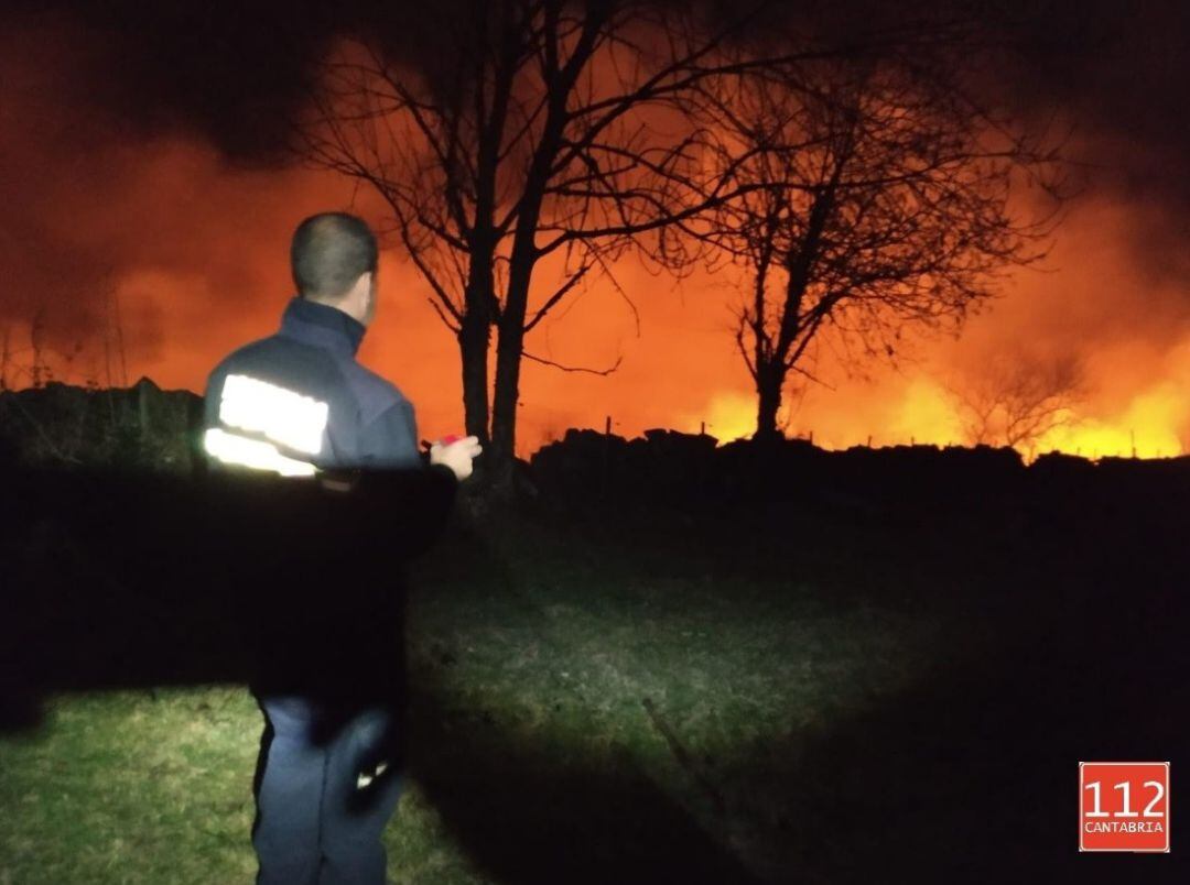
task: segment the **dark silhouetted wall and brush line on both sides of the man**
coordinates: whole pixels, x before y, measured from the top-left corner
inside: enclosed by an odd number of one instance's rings
[[[163,391],[148,378],[115,390],[51,384],[0,395],[0,457],[15,466],[132,467],[198,476],[205,458],[201,397]],[[1150,506],[1190,489],[1190,457],[1136,460],[1042,454],[1026,465],[1014,448],[933,445],[844,451],[802,439],[737,440],[651,428],[626,439],[570,428],[528,460],[522,492],[550,509],[657,501],[691,508],[807,501],[871,515],[885,508],[965,504],[1023,491],[1151,495]]]

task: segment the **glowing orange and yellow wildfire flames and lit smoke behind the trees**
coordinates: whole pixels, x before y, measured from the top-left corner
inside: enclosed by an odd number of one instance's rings
[[[79,96],[63,87],[64,51],[35,65],[18,49],[40,43],[2,43],[14,51],[2,54],[0,101],[21,125],[0,134],[0,162],[25,171],[4,186],[6,205],[24,207],[25,227],[0,231],[10,388],[32,383],[36,368],[42,382],[105,385],[148,375],[201,391],[221,356],[276,327],[290,295],[288,237],[300,218],[349,205],[380,218],[368,195],[330,172],[232,169],[196,137],[123,137],[79,113]],[[90,150],[79,153],[63,132]],[[1058,230],[1046,270],[1016,272],[960,338],[921,339],[895,366],[862,362],[869,377],[848,377],[823,346],[818,381],[791,376],[806,387],[787,387],[778,415],[785,434],[828,448],[969,445],[970,415],[956,389],[977,384],[996,354],[1025,344],[1034,356],[1077,360],[1082,374],[1077,396],[1052,403],[1052,426],[1017,444],[1023,454],[1186,453],[1183,281],[1146,271],[1135,241],[1146,212],[1109,193],[1085,197]],[[458,350],[426,284],[395,246],[380,277],[381,308],[361,357],[414,401],[422,438],[462,429]],[[552,281],[541,283],[539,299]],[[720,441],[750,435],[756,394],[728,313],[743,278],[695,274],[677,288],[626,262],[616,283],[590,284],[531,333],[531,351],[566,365],[602,369],[618,356],[622,364],[602,376],[526,362],[518,453],[527,457],[566,427],[602,429],[606,418],[626,437],[650,427],[704,427]]]

